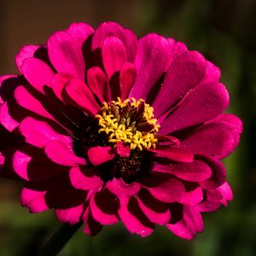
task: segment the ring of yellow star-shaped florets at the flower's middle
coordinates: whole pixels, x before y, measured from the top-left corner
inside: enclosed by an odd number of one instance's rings
[[[103,107],[96,114],[99,133],[108,136],[109,143],[125,143],[130,149],[143,150],[155,148],[157,139],[155,132],[160,125],[154,119],[154,108],[150,107],[143,99],[126,99],[124,102],[103,102]]]

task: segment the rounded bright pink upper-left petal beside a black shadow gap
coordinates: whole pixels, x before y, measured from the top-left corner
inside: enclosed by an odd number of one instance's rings
[[[25,59],[20,69],[26,80],[42,93],[44,93],[45,85],[50,86],[51,79],[54,76],[51,68],[44,61],[37,58]]]

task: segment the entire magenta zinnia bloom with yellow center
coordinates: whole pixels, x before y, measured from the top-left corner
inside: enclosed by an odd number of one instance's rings
[[[25,181],[30,212],[53,208],[91,236],[121,221],[192,239],[201,213],[232,199],[221,160],[241,120],[223,113],[220,71],[199,52],[114,22],[73,23],[15,61],[20,75],[1,77],[1,165]]]

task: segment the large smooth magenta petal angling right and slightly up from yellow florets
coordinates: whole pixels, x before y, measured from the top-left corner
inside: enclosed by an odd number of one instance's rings
[[[160,133],[167,134],[198,125],[222,113],[229,104],[223,84],[208,83],[195,87],[161,124]]]

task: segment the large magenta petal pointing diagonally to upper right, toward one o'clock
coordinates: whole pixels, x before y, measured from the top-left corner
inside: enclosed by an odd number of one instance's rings
[[[156,117],[166,112],[189,90],[201,82],[206,72],[207,62],[196,51],[188,51],[177,56],[166,73],[158,96],[153,103]],[[163,99],[168,98],[168,101]]]

